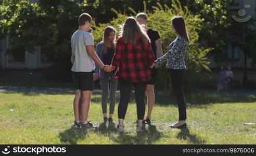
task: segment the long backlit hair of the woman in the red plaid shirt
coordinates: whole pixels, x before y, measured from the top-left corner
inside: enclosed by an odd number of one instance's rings
[[[128,17],[121,28],[120,37],[124,38],[124,43],[132,43],[136,45],[136,35],[142,37],[143,43],[149,43],[150,39],[146,31],[137,23],[134,17]]]

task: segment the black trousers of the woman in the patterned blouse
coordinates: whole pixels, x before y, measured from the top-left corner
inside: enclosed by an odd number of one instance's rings
[[[183,76],[185,70],[170,69],[172,90],[178,102],[178,120],[186,120],[186,100],[183,93]]]

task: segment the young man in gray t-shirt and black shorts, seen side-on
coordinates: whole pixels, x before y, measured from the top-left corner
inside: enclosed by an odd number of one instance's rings
[[[110,66],[105,66],[94,51],[93,35],[91,30],[92,17],[83,13],[79,16],[79,29],[71,37],[73,63],[71,71],[74,74],[75,98],[74,98],[74,127],[91,128],[92,123],[87,121],[91,94],[93,90],[93,73],[95,62],[105,72],[113,71]]]

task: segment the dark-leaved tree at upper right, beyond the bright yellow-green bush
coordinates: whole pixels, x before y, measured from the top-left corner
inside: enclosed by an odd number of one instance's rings
[[[211,54],[220,54],[226,49],[229,27],[232,21],[228,17],[228,10],[232,0],[213,0],[213,1],[182,1],[188,5],[188,9],[195,15],[200,15],[203,19],[203,27],[199,33],[199,41],[204,47],[214,49]]]

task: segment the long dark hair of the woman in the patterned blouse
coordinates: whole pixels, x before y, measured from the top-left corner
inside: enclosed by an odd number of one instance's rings
[[[174,18],[172,18],[172,25],[178,35],[185,37],[186,40],[189,41],[189,36],[187,33],[185,20],[183,17],[175,16]]]

